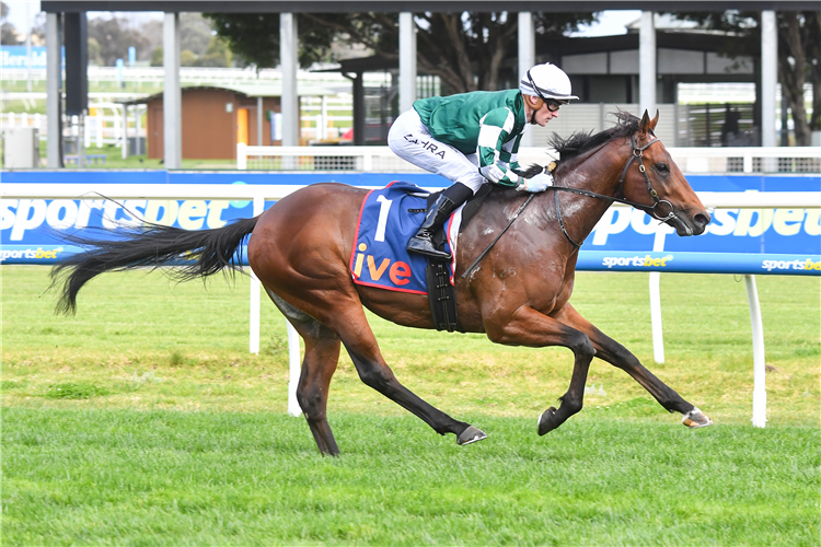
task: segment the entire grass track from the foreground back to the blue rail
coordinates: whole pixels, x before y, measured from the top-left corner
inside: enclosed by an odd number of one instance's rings
[[[691,431],[594,360],[585,409],[535,418],[566,349],[407,329],[371,316],[397,377],[489,437],[459,447],[365,386],[347,356],[322,458],[285,415],[285,323],[248,284],[111,274],[53,314],[44,267],[0,266],[2,545],[821,545],[821,280],[758,277],[768,423],[750,426],[744,284],[661,277],[652,363],[647,275],[578,276],[571,302],[716,422]],[[413,350],[408,350],[413,348]]]

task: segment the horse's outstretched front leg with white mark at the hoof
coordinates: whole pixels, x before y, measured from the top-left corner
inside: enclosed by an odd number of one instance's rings
[[[565,304],[555,317],[565,325],[585,333],[595,348],[595,357],[633,376],[668,412],[681,412],[684,416],[682,422],[685,426],[703,428],[713,423],[713,420],[704,412],[684,400],[674,389],[648,371],[627,348],[599,330],[570,304]]]

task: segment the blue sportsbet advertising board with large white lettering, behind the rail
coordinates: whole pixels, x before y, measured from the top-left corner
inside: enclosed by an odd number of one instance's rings
[[[309,185],[333,181],[358,186],[385,186],[395,179],[423,187],[442,187],[447,183],[443,178],[429,174],[164,171],[3,173],[4,183],[76,185],[78,194],[83,191],[84,184]],[[821,176],[818,175],[703,175],[690,176],[689,181],[696,191],[821,191]],[[267,201],[265,206],[267,208],[273,203]],[[118,230],[127,225],[138,226],[143,219],[186,230],[204,230],[221,228],[231,220],[252,216],[253,206],[245,200],[127,199],[119,203],[96,195],[84,196],[82,199],[0,199],[0,245],[7,249],[12,245],[14,248],[31,248],[36,254],[37,247],[45,249],[44,245],[60,245],[59,234],[65,230],[82,230],[86,226]],[[821,210],[817,208],[718,209],[713,212],[713,222],[704,235],[678,237],[669,235],[672,229],[641,211],[611,207],[588,236],[582,251],[611,254],[625,252],[634,255],[649,253],[654,248],[656,233],[660,230],[668,233],[664,252],[795,255],[791,260],[799,260],[799,255],[805,258],[821,255]],[[12,257],[7,259],[10,258]]]

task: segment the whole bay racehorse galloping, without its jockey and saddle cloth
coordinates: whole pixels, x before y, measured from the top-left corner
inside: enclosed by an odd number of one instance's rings
[[[595,135],[553,137],[553,148],[560,154],[554,171],[556,187],[533,195],[504,237],[464,278],[466,267],[529,196],[494,188],[459,234],[454,279],[462,329],[485,333],[497,344],[564,346],[574,352],[570,385],[558,408],[550,407],[540,416],[540,435],[581,410],[594,356],[624,370],[668,411],[681,412],[685,426],[712,423],[568,302],[579,245],[613,201],[646,211],[679,235],[701,234],[710,220],[655,136],[658,113],[654,119],[647,112],[641,119],[623,112],[616,117],[614,127]],[[542,167],[531,173],[536,171]],[[117,241],[67,236],[86,251],[51,272],[54,283],[63,283],[58,310],[73,313],[80,288],[104,271],[178,264],[183,254],[197,256],[196,261],[172,270],[172,276],[183,280],[240,269],[234,253],[250,235],[251,268],[305,344],[297,396],[321,453],[339,453],[326,403],[340,346],[362,382],[436,432],[453,433],[459,444],[482,440],[486,437],[482,430],[451,418],[402,385],[380,352],[363,306],[398,325],[435,326],[425,295],[354,283],[349,261],[366,194],[340,184],[315,184],[280,199],[259,217],[216,230],[188,232],[147,224]],[[511,275],[505,279],[494,275],[501,270]]]

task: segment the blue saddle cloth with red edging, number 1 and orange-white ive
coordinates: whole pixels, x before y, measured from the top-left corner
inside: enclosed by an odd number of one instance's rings
[[[354,282],[390,291],[427,294],[425,268],[428,258],[405,249],[425,219],[428,193],[415,184],[394,181],[371,190],[362,201],[357,222],[357,238],[350,252]],[[419,212],[410,212],[410,210]],[[456,267],[455,244],[462,219],[460,207],[446,223],[446,251],[453,255],[449,264],[450,282]]]

